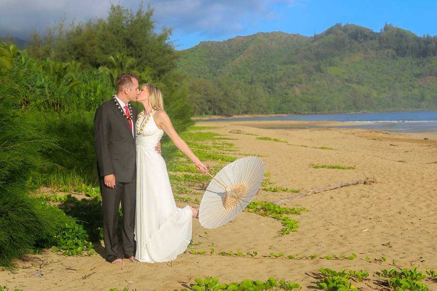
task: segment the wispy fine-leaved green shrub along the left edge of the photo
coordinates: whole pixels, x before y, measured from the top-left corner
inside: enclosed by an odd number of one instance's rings
[[[14,81],[26,83],[22,68],[0,72],[0,265],[10,266],[35,244],[50,240],[73,220],[62,211],[49,209],[29,196],[28,181],[44,164],[42,151],[54,148],[46,137],[17,109],[27,94]]]

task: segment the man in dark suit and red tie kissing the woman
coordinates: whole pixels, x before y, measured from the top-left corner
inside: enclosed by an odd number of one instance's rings
[[[117,80],[117,94],[103,103],[94,116],[94,147],[97,155],[103,239],[107,261],[123,265],[123,258],[135,260],[135,121],[138,110],[130,101],[139,95],[138,78],[124,73]],[[161,153],[161,144],[155,147]],[[123,251],[118,251],[117,218],[123,212]]]

